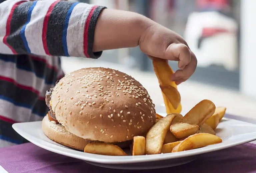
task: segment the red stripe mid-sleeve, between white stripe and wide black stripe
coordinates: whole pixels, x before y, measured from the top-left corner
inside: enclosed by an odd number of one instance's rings
[[[54,3],[52,3],[52,5],[49,7],[49,9],[48,9],[48,11],[47,11],[47,13],[44,17],[42,41],[43,41],[45,54],[49,55],[49,56],[51,56],[51,55],[50,55],[49,50],[47,48],[47,40],[46,40],[47,26],[48,26],[48,21],[49,21],[50,15],[52,13],[52,10],[58,2],[60,2],[60,1],[57,0]]]

